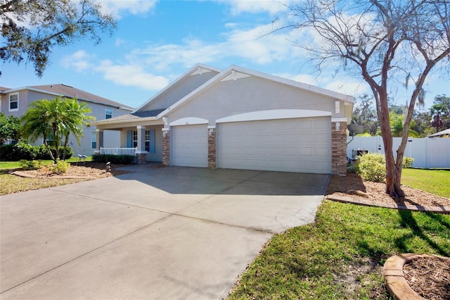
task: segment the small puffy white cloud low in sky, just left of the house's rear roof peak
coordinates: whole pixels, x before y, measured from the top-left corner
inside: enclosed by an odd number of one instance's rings
[[[164,76],[146,73],[141,65],[115,65],[111,61],[102,61],[95,70],[102,72],[106,80],[117,85],[139,87],[148,91],[160,90],[169,83]]]

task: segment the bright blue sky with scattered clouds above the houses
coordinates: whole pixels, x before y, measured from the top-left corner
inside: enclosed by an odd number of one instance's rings
[[[370,94],[364,82],[342,70],[312,74],[291,42],[301,39],[294,32],[266,35],[284,8],[279,1],[97,1],[117,20],[113,37],[97,46],[86,39],[54,49],[41,78],[31,64],[1,63],[0,85],[63,83],[138,107],[188,68],[205,63],[240,65],[352,96]],[[426,106],[437,94],[450,95],[448,79],[430,76]],[[396,103],[404,104],[409,93],[399,90]]]

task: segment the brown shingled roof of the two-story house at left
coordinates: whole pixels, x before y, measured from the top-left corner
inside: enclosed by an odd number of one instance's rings
[[[63,96],[65,98],[76,98],[81,101],[86,101],[95,104],[103,104],[105,106],[112,106],[115,108],[122,108],[129,111],[132,111],[134,108],[131,106],[127,106],[124,104],[120,104],[119,102],[112,101],[110,99],[103,98],[101,96],[97,96],[95,94],[91,94],[89,92],[85,92],[82,89],[77,89],[75,87],[71,87],[70,85],[34,85],[31,87],[19,87],[17,89],[8,89],[3,92],[18,92],[24,89],[28,89],[34,92],[42,92],[45,94],[52,94],[55,96]]]

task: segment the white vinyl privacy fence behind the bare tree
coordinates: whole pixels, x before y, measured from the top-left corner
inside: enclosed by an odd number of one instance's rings
[[[351,142],[350,142],[351,141]],[[392,153],[397,156],[401,137],[394,137]],[[383,137],[347,137],[347,157],[353,149],[366,149],[370,153],[385,154]],[[404,156],[414,158],[413,168],[450,168],[450,138],[409,137]]]

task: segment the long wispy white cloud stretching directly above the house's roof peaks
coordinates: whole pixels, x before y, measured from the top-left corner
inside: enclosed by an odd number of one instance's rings
[[[257,64],[292,60],[297,48],[289,35],[273,33],[271,25],[250,30],[232,30],[221,34],[222,42],[205,42],[186,38],[180,44],[150,45],[131,53],[134,61],[145,62],[156,70],[169,70],[171,65],[191,67],[195,63],[222,62],[226,58],[240,58]]]

